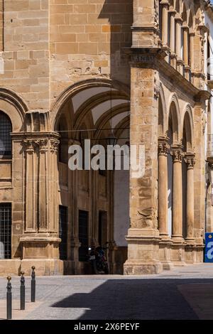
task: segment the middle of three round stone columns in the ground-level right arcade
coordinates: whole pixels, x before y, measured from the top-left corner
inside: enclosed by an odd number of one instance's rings
[[[173,156],[173,239],[182,239],[182,146],[172,145]]]

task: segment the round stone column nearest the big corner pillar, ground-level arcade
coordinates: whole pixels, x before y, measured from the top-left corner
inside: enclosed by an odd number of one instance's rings
[[[168,237],[168,138],[158,138],[158,228]]]

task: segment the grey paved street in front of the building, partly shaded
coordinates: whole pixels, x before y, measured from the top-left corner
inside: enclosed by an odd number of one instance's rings
[[[19,281],[11,281],[14,300],[19,298]],[[30,286],[31,278],[26,277],[27,301]],[[5,298],[6,279],[1,277],[1,308]],[[213,265],[185,266],[154,276],[38,276],[36,301],[38,306],[23,316],[18,311],[17,318],[213,319]]]

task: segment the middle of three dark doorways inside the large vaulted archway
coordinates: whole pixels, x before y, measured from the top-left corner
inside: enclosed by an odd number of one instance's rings
[[[79,210],[79,241],[81,246],[79,248],[79,261],[87,261],[88,254],[88,212]]]

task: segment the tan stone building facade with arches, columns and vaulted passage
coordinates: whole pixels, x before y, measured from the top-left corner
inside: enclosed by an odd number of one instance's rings
[[[203,261],[203,0],[0,0],[0,275]],[[112,130],[111,130],[112,129]],[[146,172],[70,171],[84,139],[145,146]]]

